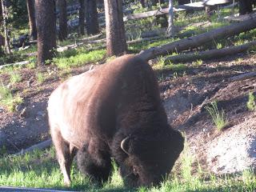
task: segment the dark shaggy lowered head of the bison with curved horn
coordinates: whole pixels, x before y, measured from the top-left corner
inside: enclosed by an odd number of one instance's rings
[[[120,172],[126,185],[158,185],[170,173],[183,150],[184,138],[176,130],[141,129],[124,138],[122,152],[126,158],[120,165]]]

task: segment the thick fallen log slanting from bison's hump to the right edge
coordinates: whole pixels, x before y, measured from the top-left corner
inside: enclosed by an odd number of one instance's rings
[[[222,26],[218,29],[210,30],[206,33],[198,34],[190,38],[184,38],[163,46],[142,50],[139,55],[145,60],[150,60],[160,55],[166,55],[174,52],[180,52],[182,50],[196,48],[217,38],[227,38],[247,30],[252,30],[254,28],[256,28],[256,18],[250,18],[244,22],[234,23],[230,26]]]

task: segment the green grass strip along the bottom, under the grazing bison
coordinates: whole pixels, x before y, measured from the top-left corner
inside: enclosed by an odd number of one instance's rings
[[[75,164],[75,163],[74,163]],[[252,170],[245,170],[242,174],[217,177],[210,173],[202,174],[199,166],[193,167],[194,158],[186,144],[180,158],[179,167],[176,166],[159,187],[127,188],[123,185],[118,174],[118,167],[113,162],[113,174],[108,182],[98,186],[83,177],[77,167],[73,165],[71,171],[72,185],[65,187],[54,149],[35,150],[23,156],[6,155],[0,157],[0,186],[26,186],[36,188],[51,188],[82,191],[248,191],[256,188],[256,178]],[[206,179],[207,178],[207,179]]]

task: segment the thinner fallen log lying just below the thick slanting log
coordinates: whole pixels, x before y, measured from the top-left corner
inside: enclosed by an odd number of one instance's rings
[[[179,54],[179,55],[166,58],[165,63],[167,64],[168,62],[172,62],[172,63],[193,62],[198,59],[205,61],[212,58],[222,58],[229,55],[245,52],[246,50],[249,50],[253,46],[256,46],[256,41],[248,42],[241,46],[230,46],[223,49],[206,50],[206,51],[192,53],[192,54]]]

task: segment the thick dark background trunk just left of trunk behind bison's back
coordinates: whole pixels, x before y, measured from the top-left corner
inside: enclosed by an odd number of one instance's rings
[[[98,34],[98,11],[95,0],[86,0],[86,30],[87,34]]]

